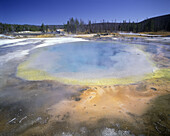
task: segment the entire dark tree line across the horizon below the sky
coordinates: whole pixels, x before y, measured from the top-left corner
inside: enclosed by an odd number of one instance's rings
[[[88,21],[85,23],[82,19],[70,18],[64,25],[17,25],[17,24],[3,24],[0,23],[0,33],[11,33],[19,31],[41,31],[54,32],[56,29],[62,29],[68,33],[109,33],[117,31],[127,32],[157,32],[170,31],[170,14],[146,19],[142,22],[130,22],[124,20],[122,23],[105,22],[92,23]]]

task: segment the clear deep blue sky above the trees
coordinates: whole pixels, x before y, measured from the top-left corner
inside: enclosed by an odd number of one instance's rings
[[[0,0],[0,22],[62,25],[71,17],[92,22],[142,21],[170,14],[170,0]]]

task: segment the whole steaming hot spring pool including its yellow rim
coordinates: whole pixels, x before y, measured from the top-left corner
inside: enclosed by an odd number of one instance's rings
[[[73,42],[35,49],[18,67],[27,80],[58,80],[78,84],[136,81],[153,72],[146,54],[134,45]]]

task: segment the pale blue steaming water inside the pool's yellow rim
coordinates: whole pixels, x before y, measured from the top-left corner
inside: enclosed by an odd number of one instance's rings
[[[59,77],[126,77],[152,71],[146,56],[131,45],[113,42],[74,42],[41,49],[30,67]]]

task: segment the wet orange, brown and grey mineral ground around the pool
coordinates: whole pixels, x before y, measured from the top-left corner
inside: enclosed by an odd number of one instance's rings
[[[6,49],[1,46],[1,58],[41,42],[43,40]],[[138,40],[131,43],[150,55],[161,69],[161,76],[123,85],[29,81],[16,76],[18,66],[29,55],[8,61],[2,61],[3,57],[0,65],[0,135],[168,136],[170,47]]]

